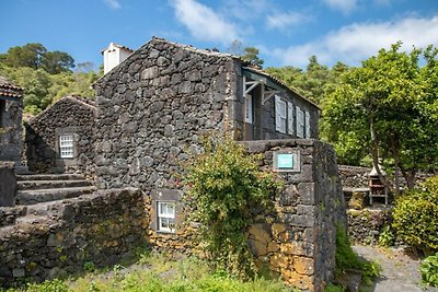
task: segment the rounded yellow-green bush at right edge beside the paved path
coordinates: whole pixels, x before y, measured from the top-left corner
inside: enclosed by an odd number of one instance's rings
[[[438,250],[438,176],[395,201],[392,226],[414,249],[425,255]]]

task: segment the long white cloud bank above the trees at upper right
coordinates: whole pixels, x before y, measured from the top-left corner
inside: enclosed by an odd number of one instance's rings
[[[274,55],[283,65],[298,67],[306,67],[312,55],[322,63],[342,61],[358,65],[397,40],[403,42],[402,49],[406,51],[412,46],[438,46],[438,15],[430,19],[411,16],[395,22],[356,23],[328,33],[315,42],[277,48]]]

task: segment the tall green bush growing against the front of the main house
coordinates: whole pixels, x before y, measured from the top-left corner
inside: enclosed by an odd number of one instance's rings
[[[186,168],[188,220],[200,223],[200,247],[215,269],[254,277],[256,267],[245,237],[251,210],[267,207],[280,184],[273,172],[260,170],[262,155],[245,153],[231,139],[206,139],[204,149]]]

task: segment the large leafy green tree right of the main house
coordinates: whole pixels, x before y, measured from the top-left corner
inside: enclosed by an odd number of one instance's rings
[[[350,132],[358,141],[368,141],[365,147],[369,148],[380,177],[379,159],[392,159],[396,192],[400,171],[412,188],[415,173],[438,160],[434,131],[437,118],[433,115],[437,105],[431,92],[438,74],[423,72],[438,72],[436,50],[429,49],[427,65],[420,68],[422,51],[406,54],[399,51],[401,43],[396,43],[389,50],[381,49],[362,67],[347,72],[343,83],[324,101],[323,113],[334,142]]]

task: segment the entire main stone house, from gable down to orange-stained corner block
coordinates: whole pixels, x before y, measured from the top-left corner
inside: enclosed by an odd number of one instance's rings
[[[203,135],[227,135],[266,167],[293,156],[297,168],[281,173],[287,188],[273,198],[277,213],[258,214],[249,242],[288,283],[320,291],[333,276],[344,206],[333,148],[318,140],[318,106],[237,56],[157,37],[106,71],[94,84],[95,183],[143,191],[148,242],[192,248],[181,162],[201,151]]]

